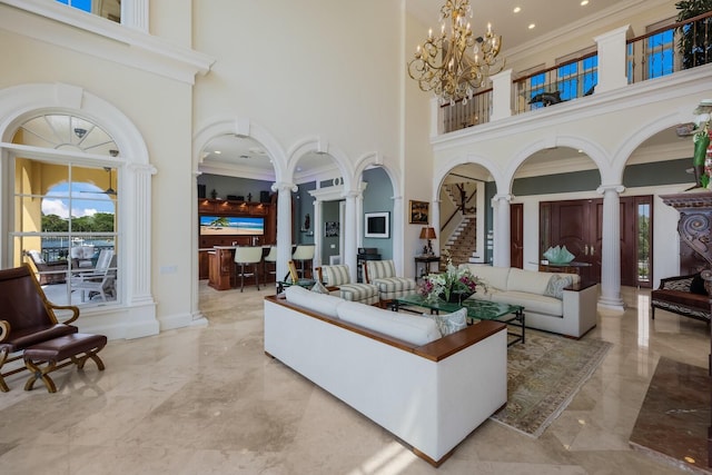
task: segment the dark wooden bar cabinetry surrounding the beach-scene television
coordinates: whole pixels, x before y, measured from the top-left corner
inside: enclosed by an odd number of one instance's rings
[[[199,216],[265,218],[265,234],[263,236],[199,235],[198,271],[201,279],[207,279],[210,275],[208,253],[212,250],[215,246],[266,246],[277,244],[276,196],[276,194],[273,195],[269,202],[198,198]]]

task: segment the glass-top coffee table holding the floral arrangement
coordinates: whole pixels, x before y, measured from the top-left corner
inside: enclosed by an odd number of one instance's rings
[[[421,294],[411,294],[392,300],[392,309],[398,311],[399,309],[413,313],[419,313],[413,310],[413,307],[421,307],[429,309],[432,314],[439,314],[441,311],[452,314],[461,308],[467,308],[467,318],[469,324],[473,319],[477,320],[497,320],[504,324],[518,327],[520,333],[507,331],[507,335],[514,337],[507,344],[512,346],[517,342],[525,343],[526,326],[524,320],[524,307],[521,305],[500,304],[497,301],[478,300],[476,298],[468,298],[459,304],[451,304],[444,300],[428,301]]]

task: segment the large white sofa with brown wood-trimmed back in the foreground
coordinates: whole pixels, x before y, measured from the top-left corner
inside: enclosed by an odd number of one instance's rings
[[[298,286],[265,298],[265,353],[434,466],[506,404],[506,348],[497,321],[441,337],[429,318]]]

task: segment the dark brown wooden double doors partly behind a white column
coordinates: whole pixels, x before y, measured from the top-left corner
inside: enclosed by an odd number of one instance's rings
[[[652,197],[622,197],[621,220],[621,285],[645,285],[641,280],[641,239],[650,244],[650,236],[641,238],[641,204]],[[650,222],[650,221],[649,221]],[[644,228],[643,228],[644,229]],[[590,264],[582,277],[601,281],[601,247],[603,243],[603,199],[542,201],[540,204],[540,256],[552,246],[566,246],[578,263]],[[652,255],[652,246],[644,251]],[[650,266],[650,256],[646,260]],[[652,266],[650,266],[652,268]]]

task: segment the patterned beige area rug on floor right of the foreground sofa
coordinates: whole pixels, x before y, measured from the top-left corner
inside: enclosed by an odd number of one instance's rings
[[[538,437],[566,408],[612,344],[527,331],[507,349],[507,404],[491,419]]]

